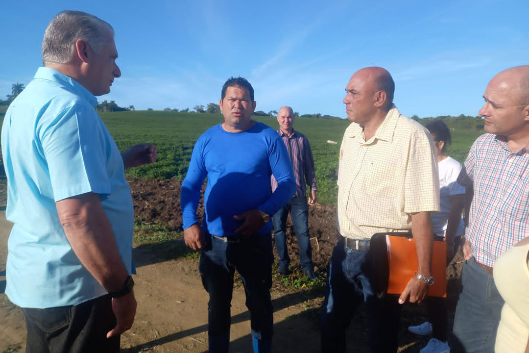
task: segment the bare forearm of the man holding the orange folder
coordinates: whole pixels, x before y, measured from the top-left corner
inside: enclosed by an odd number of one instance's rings
[[[417,251],[417,272],[423,276],[431,276],[433,229],[430,212],[412,214],[412,234]]]

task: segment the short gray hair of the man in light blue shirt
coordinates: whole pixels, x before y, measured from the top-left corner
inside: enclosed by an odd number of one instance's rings
[[[75,42],[85,40],[99,52],[102,44],[114,38],[112,26],[94,15],[80,11],[62,11],[51,20],[42,41],[42,61],[66,64],[75,52]]]

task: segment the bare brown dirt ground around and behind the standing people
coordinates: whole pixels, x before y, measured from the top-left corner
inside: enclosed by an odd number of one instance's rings
[[[180,182],[176,179],[129,178],[134,211],[145,223],[159,223],[169,230],[181,230]],[[199,213],[203,212],[202,206]],[[0,211],[0,226],[9,226],[5,212]],[[309,207],[309,228],[316,272],[324,278],[336,238],[335,210],[332,206]],[[294,230],[288,227],[287,232]],[[5,285],[7,231],[0,229],[0,289]],[[293,268],[299,276],[299,255],[295,237],[288,237]],[[196,258],[181,255],[167,258],[154,247],[134,249],[138,266],[135,293],[138,313],[130,331],[122,336],[122,350],[132,352],[207,352],[207,293],[202,287]],[[447,270],[450,312],[455,309],[462,264],[458,254]],[[289,275],[295,277],[296,274]],[[273,350],[276,352],[319,352],[319,308],[323,288],[295,289],[285,286],[277,277],[271,291],[274,306]],[[412,353],[426,345],[429,337],[417,337],[406,328],[426,320],[423,305],[406,304],[400,325],[399,352]],[[360,307],[347,334],[348,351],[368,352],[367,318]],[[25,347],[25,325],[20,308],[12,305],[0,291],[0,353],[22,352]],[[231,352],[251,352],[249,313],[244,305],[244,289],[236,284],[232,300]]]

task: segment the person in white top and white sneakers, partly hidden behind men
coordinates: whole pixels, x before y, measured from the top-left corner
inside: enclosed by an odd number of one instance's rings
[[[430,131],[435,143],[437,165],[439,166],[439,186],[441,212],[432,213],[432,225],[435,236],[446,241],[446,263],[454,256],[455,249],[463,233],[464,225],[462,210],[465,189],[456,180],[461,171],[461,164],[448,155],[446,147],[452,142],[450,130],[442,120],[434,120],[426,129]],[[428,318],[417,326],[411,326],[409,331],[427,336],[433,333],[428,345],[421,349],[421,353],[447,353],[448,346],[448,309],[445,298],[428,297],[426,300]]]

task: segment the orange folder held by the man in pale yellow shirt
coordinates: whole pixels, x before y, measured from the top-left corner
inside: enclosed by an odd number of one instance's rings
[[[388,294],[401,294],[408,280],[417,270],[417,251],[412,237],[386,234],[389,264]],[[446,243],[433,242],[432,276],[433,285],[428,288],[429,296],[446,297]]]

